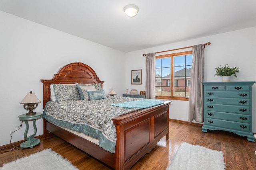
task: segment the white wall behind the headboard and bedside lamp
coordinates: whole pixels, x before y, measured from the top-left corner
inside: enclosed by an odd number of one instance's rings
[[[10,143],[13,125],[21,123],[18,115],[27,112],[20,104],[26,94],[32,90],[42,102],[40,79],[51,79],[73,62],[91,66],[105,81],[105,94],[113,88],[122,96],[125,53],[0,11],[0,146]],[[42,112],[42,105],[38,104],[37,112]],[[31,121],[29,125],[28,136],[34,132]],[[42,119],[36,125],[36,135],[42,135]],[[12,134],[12,142],[24,139],[25,127],[23,123]]]

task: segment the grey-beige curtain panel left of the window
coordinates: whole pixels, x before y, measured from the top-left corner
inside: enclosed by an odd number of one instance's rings
[[[146,54],[146,99],[155,99],[156,53]]]

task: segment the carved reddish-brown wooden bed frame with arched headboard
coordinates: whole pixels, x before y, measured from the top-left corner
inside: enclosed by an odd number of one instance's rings
[[[70,63],[63,66],[51,80],[41,80],[43,83],[43,105],[50,101],[50,84],[103,84],[94,70],[83,63]],[[116,151],[108,152],[98,145],[70,133],[44,119],[43,137],[49,133],[64,139],[87,154],[100,160],[115,170],[128,170],[146,153],[149,153],[162,137],[169,138],[169,105],[140,109],[125,115],[114,117],[116,126]]]

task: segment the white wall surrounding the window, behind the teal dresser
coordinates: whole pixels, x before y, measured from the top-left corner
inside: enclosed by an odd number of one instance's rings
[[[231,81],[256,81],[256,27],[241,29],[228,33],[192,39],[150,49],[126,53],[126,86],[130,89],[145,90],[145,57],[142,54],[166,51],[181,47],[211,42],[205,49],[204,81],[221,81],[221,77],[214,77],[215,68],[220,64],[229,64],[230,67],[240,67],[237,78],[232,76]],[[188,51],[192,49],[183,49]],[[180,51],[171,51],[176,53]],[[160,53],[156,55],[163,55]],[[142,69],[142,85],[131,84],[131,70]],[[252,94],[252,131],[256,132],[256,84]],[[125,89],[124,89],[125,92]],[[170,118],[188,121],[188,101],[172,100]]]

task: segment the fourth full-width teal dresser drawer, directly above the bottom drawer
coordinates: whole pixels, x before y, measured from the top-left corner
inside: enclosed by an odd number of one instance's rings
[[[224,113],[218,111],[206,111],[205,117],[211,119],[223,119],[228,121],[236,121],[242,123],[250,123],[250,115],[240,115],[236,113]]]

